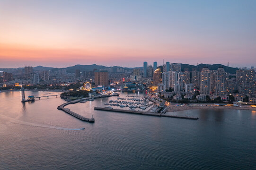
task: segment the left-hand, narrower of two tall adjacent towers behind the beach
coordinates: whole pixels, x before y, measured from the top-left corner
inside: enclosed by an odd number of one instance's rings
[[[207,67],[203,68],[200,75],[200,94],[210,94],[210,78],[211,71]]]

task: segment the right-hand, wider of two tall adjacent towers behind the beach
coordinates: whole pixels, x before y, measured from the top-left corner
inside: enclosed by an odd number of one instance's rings
[[[227,80],[228,74],[224,68],[218,68],[216,72],[216,81],[215,81],[215,94],[219,96],[224,96],[227,94]]]

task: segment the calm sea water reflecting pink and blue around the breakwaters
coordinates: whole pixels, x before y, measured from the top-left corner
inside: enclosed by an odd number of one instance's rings
[[[90,124],[57,110],[60,97],[21,103],[20,92],[0,93],[0,169],[256,169],[256,111],[170,113],[199,117],[187,120],[93,109],[116,98],[67,106],[93,114]]]

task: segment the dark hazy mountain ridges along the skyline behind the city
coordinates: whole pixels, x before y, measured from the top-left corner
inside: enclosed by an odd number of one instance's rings
[[[181,64],[181,63],[174,63],[174,64]],[[181,64],[181,69],[182,71],[193,71],[197,70],[200,71],[202,68],[208,67],[210,70],[217,70],[219,67],[223,67],[225,71],[235,74],[238,68],[232,68],[232,67],[227,67],[221,64],[199,64],[197,66],[194,65],[189,65],[189,64]],[[138,67],[143,69],[143,67]],[[6,71],[6,72],[16,72],[17,70],[24,69],[24,68],[0,68],[0,71]],[[68,73],[75,73],[77,69],[79,69],[81,72],[82,71],[93,71],[94,69],[97,70],[107,70],[107,71],[112,71],[112,72],[122,72],[123,70],[126,72],[131,72],[133,68],[124,68],[124,67],[119,67],[119,66],[114,66],[114,67],[106,67],[106,66],[100,66],[96,64],[92,65],[75,65],[67,68],[51,68],[51,67],[43,67],[43,66],[36,66],[33,68],[34,70],[38,71],[43,71],[43,70],[52,70],[52,71],[58,71],[60,69],[66,69]],[[122,71],[121,71],[122,70]]]

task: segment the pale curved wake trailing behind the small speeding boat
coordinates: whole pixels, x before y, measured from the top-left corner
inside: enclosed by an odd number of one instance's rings
[[[58,130],[84,130],[85,128],[66,128],[66,127],[57,127],[53,125],[46,125],[41,123],[32,123],[32,122],[26,122],[18,119],[13,119],[5,115],[0,115],[1,117],[4,117],[9,120],[10,123],[20,124],[20,125],[27,125],[31,127],[43,127],[43,128],[52,128],[52,129],[58,129]]]

